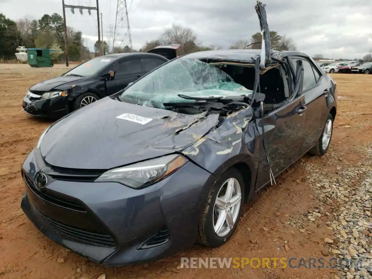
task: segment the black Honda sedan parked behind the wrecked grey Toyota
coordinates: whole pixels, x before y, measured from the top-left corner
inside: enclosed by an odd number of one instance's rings
[[[180,45],[164,45],[148,53],[109,54],[93,58],[61,76],[30,87],[23,110],[52,119],[112,95],[161,64],[176,58]]]

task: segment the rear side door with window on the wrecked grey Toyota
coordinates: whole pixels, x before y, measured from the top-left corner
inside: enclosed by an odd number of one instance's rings
[[[301,146],[301,155],[309,151],[319,140],[328,115],[327,97],[331,93],[330,84],[319,69],[306,57],[289,57],[293,69],[297,60],[304,65],[304,83],[302,92],[307,106],[305,117],[305,137]]]

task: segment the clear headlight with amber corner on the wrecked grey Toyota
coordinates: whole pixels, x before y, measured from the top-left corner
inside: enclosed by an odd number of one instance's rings
[[[187,159],[173,154],[106,171],[95,182],[118,182],[134,189],[141,189],[158,182],[178,170]]]

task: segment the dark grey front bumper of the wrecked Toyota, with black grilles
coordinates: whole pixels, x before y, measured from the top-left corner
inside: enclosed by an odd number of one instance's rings
[[[192,246],[210,173],[189,162],[141,190],[119,183],[59,180],[45,190],[33,177],[47,164],[34,150],[22,166],[21,207],[49,239],[107,266],[154,261]],[[38,158],[38,159],[36,159]]]

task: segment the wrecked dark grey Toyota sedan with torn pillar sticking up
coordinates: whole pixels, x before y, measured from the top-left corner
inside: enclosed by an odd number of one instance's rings
[[[333,79],[264,39],[173,59],[49,126],[22,166],[25,214],[108,266],[226,243],[245,202],[327,152],[336,117]]]

